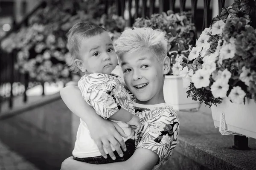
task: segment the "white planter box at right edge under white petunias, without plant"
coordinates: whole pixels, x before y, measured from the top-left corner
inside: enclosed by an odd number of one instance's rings
[[[253,99],[246,99],[245,105],[238,105],[225,98],[220,105],[212,106],[211,110],[215,127],[220,127],[221,121],[225,130],[256,139],[256,103]],[[222,113],[224,121],[221,119]]]

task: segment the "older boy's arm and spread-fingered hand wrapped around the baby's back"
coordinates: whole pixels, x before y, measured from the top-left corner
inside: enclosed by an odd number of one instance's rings
[[[115,122],[101,118],[95,110],[84,101],[81,91],[77,86],[67,86],[61,89],[60,94],[70,111],[79,116],[87,124],[92,139],[96,142],[102,156],[106,156],[102,147],[102,144],[104,144],[111,158],[114,157],[110,143],[116,149],[119,156],[123,155],[119,144],[123,150],[126,150],[122,136],[127,138],[127,135],[125,135],[121,127]]]

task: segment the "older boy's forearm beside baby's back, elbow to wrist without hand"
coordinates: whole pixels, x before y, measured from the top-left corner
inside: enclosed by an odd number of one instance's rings
[[[77,86],[67,86],[60,91],[61,98],[71,112],[79,116],[87,125],[102,119],[95,110],[84,101],[81,91]]]

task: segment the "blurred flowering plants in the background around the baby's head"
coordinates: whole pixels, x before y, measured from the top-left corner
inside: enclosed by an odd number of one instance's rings
[[[119,37],[125,28],[122,17],[112,13],[98,14],[98,8],[94,12],[90,10],[93,6],[104,9],[97,1],[77,1],[81,8],[76,10],[70,3],[72,1],[53,1],[30,18],[29,26],[20,28],[2,41],[1,47],[8,52],[17,51],[15,68],[29,73],[31,78],[43,82],[68,82],[73,75],[65,67],[70,55],[66,33],[75,23],[90,20],[105,27],[112,39]]]

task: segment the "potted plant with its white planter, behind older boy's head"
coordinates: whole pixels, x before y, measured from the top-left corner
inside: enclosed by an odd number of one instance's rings
[[[191,23],[189,12],[152,14],[151,18],[137,18],[134,27],[151,27],[166,32],[168,39],[167,56],[171,60],[171,70],[165,77],[163,92],[166,103],[179,111],[181,109],[198,109],[200,104],[187,98],[183,79],[178,76],[180,68],[177,63],[188,60],[189,52],[195,44],[195,26]]]

